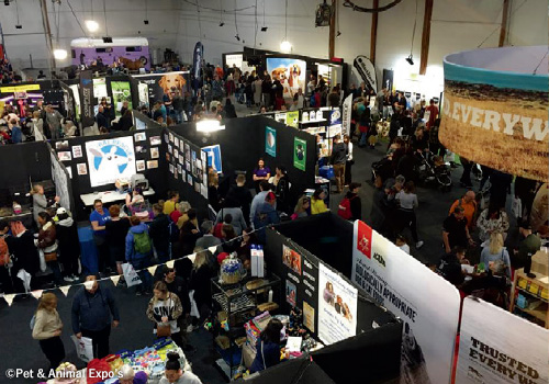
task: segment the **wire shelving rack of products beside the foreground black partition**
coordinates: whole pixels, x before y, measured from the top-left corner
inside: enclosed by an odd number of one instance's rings
[[[262,284],[257,284],[247,289],[246,284],[261,279]],[[228,338],[228,348],[221,348],[215,341],[215,348],[222,359],[215,364],[228,381],[232,380],[239,365],[242,349],[236,343],[239,337],[244,337],[246,331],[244,324],[259,313],[257,305],[268,302],[269,291],[272,290],[273,302],[278,303],[280,297],[280,278],[269,273],[264,278],[245,278],[235,284],[223,284],[219,278],[212,279],[212,297],[214,298],[214,309],[217,312],[219,335]],[[235,305],[236,304],[236,305]],[[222,326],[225,318],[228,329]]]

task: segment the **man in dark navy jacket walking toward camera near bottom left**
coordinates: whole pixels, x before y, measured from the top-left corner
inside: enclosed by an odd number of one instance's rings
[[[85,286],[72,298],[72,331],[77,338],[88,337],[93,343],[93,358],[109,354],[109,336],[120,324],[119,307],[111,291],[101,287],[94,275],[86,278]]]

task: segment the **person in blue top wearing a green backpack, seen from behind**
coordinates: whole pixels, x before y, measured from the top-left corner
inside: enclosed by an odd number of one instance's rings
[[[139,217],[130,218],[132,227],[126,236],[126,261],[132,264],[135,271],[139,271],[142,283],[136,287],[136,295],[150,294],[153,276],[146,268],[150,266],[150,255],[153,251],[153,241],[148,236],[148,228],[142,223]]]

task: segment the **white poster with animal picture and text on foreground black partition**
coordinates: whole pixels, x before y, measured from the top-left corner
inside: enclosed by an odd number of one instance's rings
[[[318,266],[318,337],[325,345],[357,334],[358,290],[324,263]]]

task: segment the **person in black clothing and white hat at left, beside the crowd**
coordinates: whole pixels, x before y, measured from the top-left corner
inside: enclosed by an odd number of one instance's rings
[[[59,261],[63,264],[66,282],[78,280],[78,259],[80,257],[80,242],[78,241],[78,229],[66,208],[57,208],[56,222]]]

